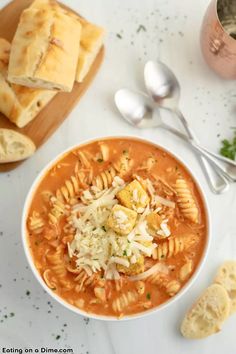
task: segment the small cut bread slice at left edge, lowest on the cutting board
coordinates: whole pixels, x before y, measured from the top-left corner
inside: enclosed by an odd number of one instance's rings
[[[35,151],[35,145],[27,136],[12,129],[0,128],[0,163],[24,160]]]

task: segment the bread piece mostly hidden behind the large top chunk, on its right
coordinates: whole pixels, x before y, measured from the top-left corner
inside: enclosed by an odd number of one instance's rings
[[[35,0],[31,5],[31,8],[34,9],[55,9],[56,7],[59,7],[59,4],[55,0]],[[82,25],[80,53],[76,72],[76,81],[82,82],[103,45],[105,30],[102,27],[86,21],[74,12],[67,11],[64,8],[61,8],[61,10],[71,18],[78,20]]]

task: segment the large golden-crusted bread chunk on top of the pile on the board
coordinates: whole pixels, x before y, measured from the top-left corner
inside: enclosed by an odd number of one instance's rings
[[[80,35],[80,22],[59,6],[24,10],[12,41],[8,80],[28,87],[70,92]]]

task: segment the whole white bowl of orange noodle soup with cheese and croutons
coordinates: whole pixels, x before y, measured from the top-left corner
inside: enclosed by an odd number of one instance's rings
[[[130,319],[176,301],[209,246],[206,199],[189,168],[134,137],[74,146],[38,175],[22,237],[43,288],[66,308]]]

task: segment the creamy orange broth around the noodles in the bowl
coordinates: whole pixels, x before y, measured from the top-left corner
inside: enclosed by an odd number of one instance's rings
[[[129,175],[125,176],[125,181],[131,180],[131,175],[138,174],[143,178],[148,178],[149,173],[145,170],[139,169],[142,165],[143,161],[152,156],[157,161],[155,167],[152,169],[152,174],[157,175],[161,179],[165,180],[170,185],[174,185],[176,178],[183,177],[186,181],[188,181],[191,186],[192,192],[194,194],[195,200],[198,204],[198,208],[200,211],[200,222],[198,227],[193,229],[193,226],[187,222],[180,222],[176,224],[173,221],[170,222],[171,234],[174,236],[181,236],[183,234],[194,233],[199,237],[199,242],[191,247],[188,252],[180,253],[172,258],[169,258],[165,261],[170,269],[173,266],[171,271],[171,278],[177,278],[181,266],[184,264],[185,257],[192,259],[194,264],[194,271],[199,264],[199,261],[202,258],[202,254],[204,251],[204,247],[206,244],[206,234],[207,234],[207,221],[206,221],[206,213],[202,200],[201,193],[198,190],[198,187],[194,183],[189,172],[184,168],[184,166],[175,159],[172,155],[165,152],[161,148],[155,147],[152,144],[142,142],[139,140],[132,139],[105,139],[104,142],[109,145],[110,148],[110,158],[109,161],[105,162],[97,162],[92,161],[94,174],[98,175],[100,172],[104,171],[108,168],[116,159],[125,151],[130,152],[130,158],[134,160],[134,166]],[[56,165],[53,166],[43,177],[41,182],[39,183],[36,191],[34,192],[31,205],[29,208],[29,216],[33,211],[37,211],[40,213],[42,218],[46,223],[46,228],[41,234],[34,234],[28,232],[28,244],[32,254],[32,258],[34,260],[35,266],[42,276],[43,272],[50,268],[50,264],[48,263],[46,254],[47,252],[54,252],[55,247],[49,245],[47,238],[45,235],[48,232],[52,232],[53,227],[48,224],[48,211],[49,205],[45,202],[42,192],[50,191],[53,194],[56,193],[56,190],[60,188],[65,180],[68,180],[71,175],[74,174],[74,169],[76,163],[78,161],[77,151],[86,151],[89,152],[92,156],[95,156],[99,151],[99,142],[92,142],[87,145],[83,145],[73,151],[70,151],[65,156],[62,157],[60,161],[57,161]],[[161,193],[158,193],[161,195]],[[55,245],[60,245],[62,243],[63,237],[65,234],[63,233],[63,226],[65,224],[65,218],[60,220],[59,230],[57,230],[57,236],[55,237]],[[158,241],[158,243],[164,242]],[[67,245],[64,243],[65,248],[65,257],[67,256]],[[64,260],[62,260],[64,262]],[[156,261],[155,261],[156,262]],[[154,262],[154,264],[155,264]],[[73,263],[73,260],[72,260]],[[194,271],[192,274],[194,274]],[[85,291],[81,293],[77,293],[74,290],[74,281],[75,275],[67,272],[65,275],[65,279],[68,283],[71,284],[72,289],[64,289],[60,282],[57,282],[55,288],[53,289],[57,295],[59,295],[66,302],[76,306],[76,302],[78,299],[83,299],[85,301],[85,306],[82,310],[85,310],[88,313],[94,313],[98,315],[107,315],[107,316],[117,316],[114,313],[111,303],[112,300],[115,299],[122,293],[126,291],[130,291],[135,289],[135,282],[130,281],[128,277],[123,276],[123,284],[122,290],[120,293],[115,289],[114,281],[106,280],[106,294],[109,295],[109,301],[104,306],[103,304],[93,303],[91,302],[94,299],[93,288],[88,287]],[[189,280],[189,279],[188,279]],[[182,286],[185,285],[185,282],[182,283]],[[145,292],[142,295],[139,295],[138,301],[134,304],[131,304],[128,309],[125,311],[125,315],[131,315],[134,313],[139,313],[146,311],[147,309],[157,307],[158,305],[166,302],[170,299],[162,288],[159,288],[150,283],[145,284]]]

